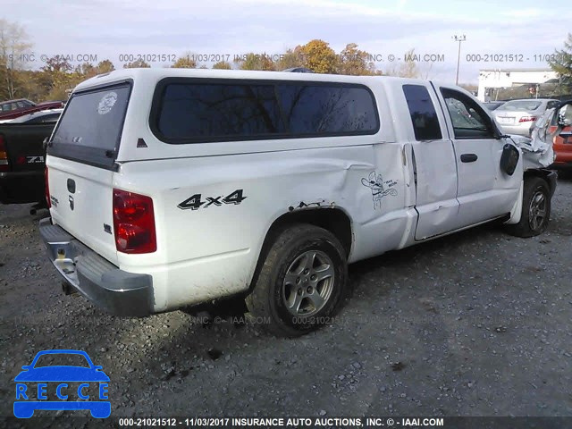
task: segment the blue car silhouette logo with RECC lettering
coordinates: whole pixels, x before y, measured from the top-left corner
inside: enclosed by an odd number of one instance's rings
[[[52,355],[58,355],[57,357]],[[85,362],[85,366],[51,365],[41,366],[38,361],[46,358],[73,357]],[[83,358],[85,358],[85,361]],[[14,416],[29,418],[35,410],[78,410],[88,409],[91,416],[105,418],[111,414],[111,403],[107,397],[109,377],[102,371],[102,366],[95,366],[88,354],[82,350],[54,349],[42,350],[29,366],[22,366],[23,371],[16,375],[16,400],[14,401]],[[33,384],[32,384],[33,383]],[[47,400],[49,392],[58,400]],[[77,388],[70,383],[78,384]],[[89,394],[88,390],[97,383],[97,395]],[[37,389],[34,389],[37,384]],[[78,400],[73,400],[77,396]],[[68,400],[69,399],[69,400]]]

